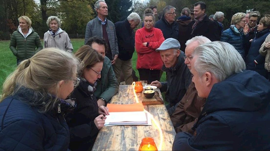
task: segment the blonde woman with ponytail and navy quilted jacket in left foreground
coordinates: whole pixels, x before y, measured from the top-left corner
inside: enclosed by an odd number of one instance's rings
[[[3,85],[0,99],[1,150],[67,150],[64,101],[79,84],[80,62],[56,48],[22,61]],[[73,104],[74,105],[74,104]]]

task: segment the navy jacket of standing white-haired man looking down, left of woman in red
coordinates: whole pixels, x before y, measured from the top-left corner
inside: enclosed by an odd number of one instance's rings
[[[118,58],[124,61],[129,60],[135,51],[134,31],[130,28],[130,23],[127,19],[114,23],[114,26],[118,42]]]

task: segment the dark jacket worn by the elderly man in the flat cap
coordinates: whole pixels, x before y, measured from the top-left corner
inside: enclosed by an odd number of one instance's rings
[[[177,63],[174,67],[166,68],[162,67],[162,71],[167,72],[167,81],[161,82],[161,92],[166,91],[166,101],[170,103],[169,114],[171,115],[177,104],[183,98],[187,92],[188,86],[191,82],[191,74],[187,65],[184,63],[184,52],[180,51],[180,55],[177,58]]]

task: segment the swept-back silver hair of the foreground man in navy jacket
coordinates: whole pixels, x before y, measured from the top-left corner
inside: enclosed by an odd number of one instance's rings
[[[210,72],[219,82],[246,69],[240,53],[227,42],[214,41],[200,45],[195,48],[193,56],[197,56],[194,69],[199,77]]]

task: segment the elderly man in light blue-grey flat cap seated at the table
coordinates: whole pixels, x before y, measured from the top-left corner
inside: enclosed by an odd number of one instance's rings
[[[164,63],[161,70],[167,72],[167,81],[153,81],[151,85],[160,88],[161,92],[166,91],[165,99],[170,103],[166,107],[171,115],[190,85],[191,73],[184,63],[185,54],[180,51],[180,43],[176,39],[166,39],[156,51],[160,52]]]

